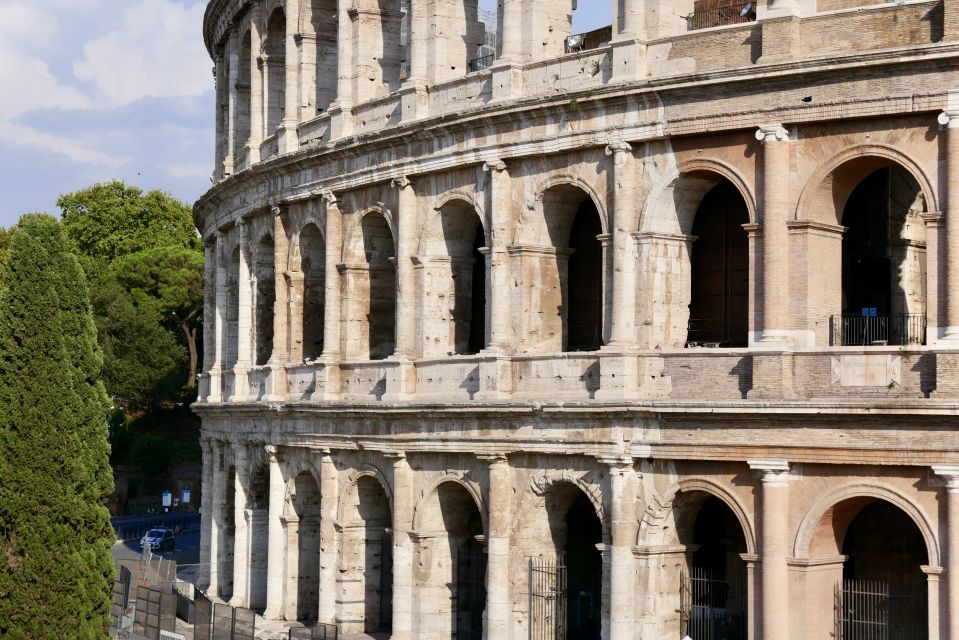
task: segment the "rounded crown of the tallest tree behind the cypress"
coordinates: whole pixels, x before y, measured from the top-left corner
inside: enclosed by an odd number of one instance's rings
[[[167,193],[143,192],[119,180],[60,196],[63,229],[88,274],[117,258],[172,245],[202,250],[193,212]]]

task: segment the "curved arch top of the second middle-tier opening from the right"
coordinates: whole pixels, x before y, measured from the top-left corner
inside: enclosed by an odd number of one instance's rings
[[[756,223],[756,196],[742,174],[722,160],[694,158],[680,162],[653,189],[640,212],[639,231],[689,235],[699,203],[723,179],[732,183],[743,197],[749,221]],[[657,221],[663,225],[657,226]],[[674,224],[667,226],[668,223]]]

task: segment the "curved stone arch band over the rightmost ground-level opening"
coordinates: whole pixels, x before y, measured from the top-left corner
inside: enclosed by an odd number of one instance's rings
[[[902,510],[916,525],[926,543],[926,554],[930,566],[940,566],[939,543],[935,528],[925,512],[897,489],[876,482],[857,482],[848,484],[823,495],[803,516],[793,543],[793,556],[809,557],[809,549],[823,516],[837,504],[850,498],[872,498],[884,500]]]

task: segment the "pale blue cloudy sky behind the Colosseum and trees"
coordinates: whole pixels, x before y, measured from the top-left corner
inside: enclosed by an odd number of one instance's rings
[[[481,4],[495,7],[494,2]],[[574,31],[609,24],[579,0]],[[193,202],[213,169],[206,0],[0,0],[0,226],[119,178]]]

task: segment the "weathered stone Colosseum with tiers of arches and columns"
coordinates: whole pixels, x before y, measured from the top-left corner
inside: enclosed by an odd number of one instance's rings
[[[959,640],[959,0],[589,2],[209,2],[201,586]]]

